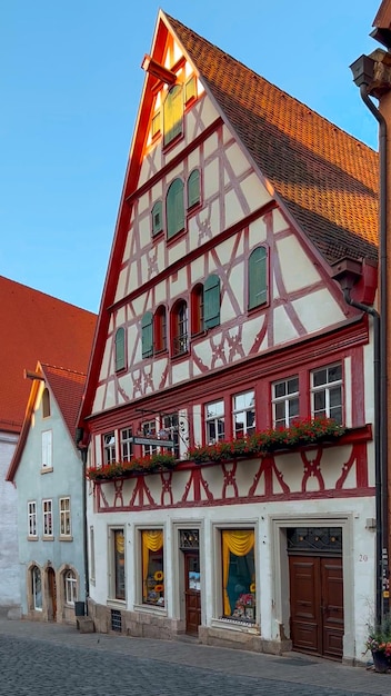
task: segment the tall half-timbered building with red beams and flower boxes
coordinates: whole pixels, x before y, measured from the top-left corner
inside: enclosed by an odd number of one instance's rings
[[[142,66],[79,421],[89,613],[360,662],[377,153],[162,11]]]

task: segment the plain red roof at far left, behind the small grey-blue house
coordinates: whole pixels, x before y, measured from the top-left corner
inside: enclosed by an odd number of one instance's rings
[[[0,429],[19,432],[31,382],[23,369],[40,359],[87,372],[97,317],[0,276]]]

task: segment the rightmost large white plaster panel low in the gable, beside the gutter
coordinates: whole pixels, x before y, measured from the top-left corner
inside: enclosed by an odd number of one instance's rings
[[[294,300],[292,305],[309,334],[332,326],[345,318],[327,288],[305,295],[305,297]],[[322,308],[321,311],[319,310],[320,307]]]

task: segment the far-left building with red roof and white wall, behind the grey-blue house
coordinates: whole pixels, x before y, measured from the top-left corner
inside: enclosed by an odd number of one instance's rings
[[[0,297],[0,613],[18,615],[18,496],[6,476],[30,394],[23,370],[40,359],[87,372],[97,316],[2,276]]]

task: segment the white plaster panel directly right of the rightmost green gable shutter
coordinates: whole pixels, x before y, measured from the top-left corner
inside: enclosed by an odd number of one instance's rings
[[[277,250],[287,292],[294,292],[321,279],[295,235],[278,239]]]

